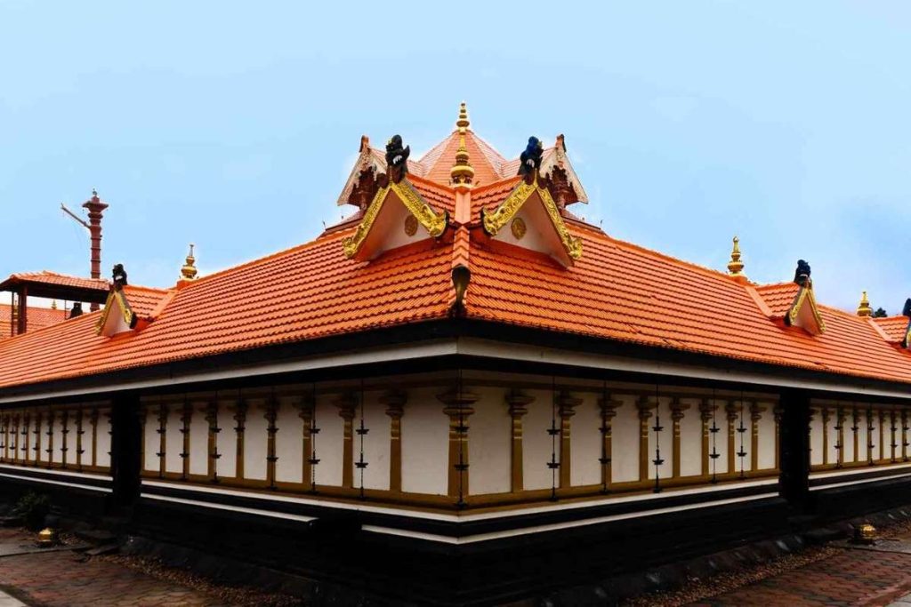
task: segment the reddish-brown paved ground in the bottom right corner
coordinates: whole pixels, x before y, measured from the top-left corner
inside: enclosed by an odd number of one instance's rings
[[[900,600],[909,591],[911,554],[846,548],[823,560],[691,605],[873,607]]]

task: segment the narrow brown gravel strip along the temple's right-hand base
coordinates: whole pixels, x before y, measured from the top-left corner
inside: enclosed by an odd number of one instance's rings
[[[882,539],[896,537],[911,532],[911,521],[900,522],[888,527],[881,527],[879,536]],[[765,578],[788,572],[815,561],[822,561],[844,550],[834,546],[818,546],[787,554],[773,561],[747,567],[742,570],[720,573],[711,578],[692,578],[680,588],[670,592],[647,594],[630,599],[622,604],[624,607],[679,607],[690,602],[708,599],[724,592],[731,592]]]

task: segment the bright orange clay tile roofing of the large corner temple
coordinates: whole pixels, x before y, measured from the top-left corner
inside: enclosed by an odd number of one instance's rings
[[[472,163],[488,167],[491,181],[471,192],[468,224],[455,223],[455,191],[445,185],[451,137],[409,177],[429,205],[449,212],[444,237],[359,262],[343,254],[342,240],[357,225],[348,219],[310,243],[176,289],[128,287],[147,326],[98,336],[96,312],[4,339],[0,388],[445,319],[455,300],[451,271],[460,265],[471,271],[468,319],[911,384],[911,352],[884,338],[901,322],[820,306],[823,334],[786,327],[793,283],[738,281],[578,221],[568,228],[583,253],[569,268],[486,238],[479,210],[500,204],[518,179],[510,163],[496,167],[480,139],[473,145]],[[445,179],[435,178],[435,167],[440,176],[445,167]]]

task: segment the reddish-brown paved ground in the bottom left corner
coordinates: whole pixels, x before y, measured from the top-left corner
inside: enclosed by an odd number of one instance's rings
[[[0,542],[23,541],[21,531],[0,529]],[[200,591],[71,551],[0,558],[0,589],[28,604],[48,607],[197,607],[223,604]],[[0,605],[4,603],[0,602]]]

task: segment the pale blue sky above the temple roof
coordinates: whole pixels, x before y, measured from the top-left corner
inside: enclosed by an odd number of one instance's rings
[[[609,234],[817,296],[911,296],[911,4],[0,0],[0,276],[167,286],[316,236],[359,138],[415,152],[466,100],[508,157],[565,133]]]

